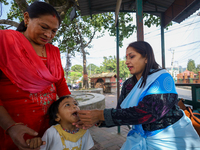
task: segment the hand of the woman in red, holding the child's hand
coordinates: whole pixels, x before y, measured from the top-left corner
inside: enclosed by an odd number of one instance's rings
[[[39,148],[31,149],[29,145],[24,140],[24,134],[29,134],[31,136],[37,136],[38,133],[34,130],[28,128],[25,125],[16,125],[11,127],[7,133],[12,138],[15,145],[19,148],[19,150],[39,150]]]

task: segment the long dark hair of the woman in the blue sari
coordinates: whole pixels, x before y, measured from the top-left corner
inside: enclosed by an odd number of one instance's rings
[[[144,87],[146,85],[147,76],[151,73],[150,70],[151,69],[160,70],[161,67],[156,62],[153,49],[149,43],[145,41],[136,41],[136,42],[130,43],[127,48],[129,47],[134,48],[136,52],[142,55],[142,57],[147,57],[147,65],[144,69],[144,72],[142,73],[143,80],[142,80],[142,83],[140,84],[140,88],[141,88],[142,86]],[[137,82],[137,79],[135,75],[133,75],[133,82],[135,81]]]

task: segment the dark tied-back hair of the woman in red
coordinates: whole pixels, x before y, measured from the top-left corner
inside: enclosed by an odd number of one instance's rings
[[[31,19],[39,18],[40,16],[43,16],[43,15],[56,16],[59,21],[59,25],[61,23],[60,16],[59,16],[58,12],[56,11],[56,9],[46,2],[35,1],[30,6],[28,6],[28,8],[26,9],[25,12],[28,12],[29,17]],[[17,27],[16,30],[19,32],[24,32],[24,31],[26,31],[26,28],[27,27],[25,26],[24,20],[23,20],[19,24],[19,26]]]

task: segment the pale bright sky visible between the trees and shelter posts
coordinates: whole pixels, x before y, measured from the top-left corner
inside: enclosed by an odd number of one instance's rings
[[[2,7],[2,16],[0,18],[5,19],[6,13],[9,11],[9,6]],[[165,65],[171,67],[173,51],[174,51],[174,67],[182,66],[187,67],[189,59],[193,59],[195,64],[200,64],[200,15],[197,13],[200,9],[185,19],[183,22],[175,23],[165,29]],[[135,13],[133,24],[136,24]],[[151,28],[144,26],[144,41],[148,42],[153,50],[156,61],[162,65],[161,56],[161,37],[160,27],[152,26]],[[133,33],[129,38],[124,39],[123,47],[119,48],[119,57],[123,59],[126,53],[126,47],[129,43],[137,40],[137,34]],[[86,49],[90,55],[87,55],[87,65],[93,63],[97,66],[102,65],[103,57],[116,56],[116,37],[109,36],[108,32],[98,39],[93,39],[92,48]],[[61,54],[62,65],[65,67],[66,60],[65,54]],[[73,65],[83,65],[82,56],[80,53],[76,53],[75,57],[71,58]]]

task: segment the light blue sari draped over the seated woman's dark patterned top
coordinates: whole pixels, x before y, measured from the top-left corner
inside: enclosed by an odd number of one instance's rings
[[[139,88],[142,78],[121,103],[121,108],[137,106],[147,95],[177,94],[173,78],[166,70],[147,77],[146,85]],[[183,112],[184,114],[184,112]],[[163,114],[164,115],[164,114]],[[133,125],[121,150],[200,150],[200,138],[190,119],[183,117],[165,129],[144,131],[142,124]]]

